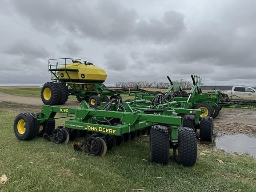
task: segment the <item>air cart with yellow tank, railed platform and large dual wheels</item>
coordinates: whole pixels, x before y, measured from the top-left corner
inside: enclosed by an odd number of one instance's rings
[[[45,105],[61,105],[67,102],[68,96],[76,96],[81,102],[99,106],[113,98],[120,98],[122,93],[156,93],[137,88],[110,89],[103,83],[107,78],[104,69],[88,61],[73,58],[48,60],[48,71],[52,82],[45,83],[41,89],[41,99]]]

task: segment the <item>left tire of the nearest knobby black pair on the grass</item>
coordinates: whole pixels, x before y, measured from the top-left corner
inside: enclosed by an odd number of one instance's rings
[[[170,153],[168,128],[163,125],[153,125],[149,138],[149,158],[152,163],[167,164]]]

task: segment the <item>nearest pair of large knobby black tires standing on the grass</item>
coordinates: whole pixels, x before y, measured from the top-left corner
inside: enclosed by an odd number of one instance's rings
[[[149,140],[150,160],[157,164],[168,164],[170,146],[168,128],[162,125],[152,126]],[[193,166],[196,163],[196,134],[191,128],[178,128],[178,143],[173,147],[173,156],[177,164]]]

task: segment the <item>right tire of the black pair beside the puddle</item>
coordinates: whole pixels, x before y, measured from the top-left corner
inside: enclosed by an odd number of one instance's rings
[[[213,139],[213,119],[212,117],[202,117],[200,120],[200,139],[212,141]]]

